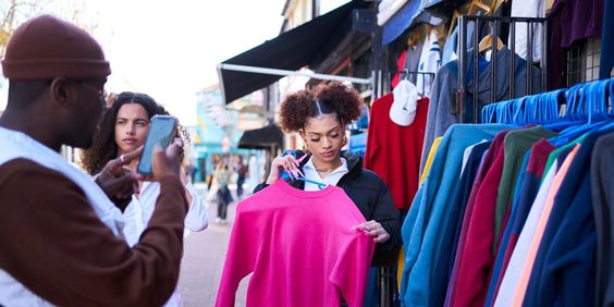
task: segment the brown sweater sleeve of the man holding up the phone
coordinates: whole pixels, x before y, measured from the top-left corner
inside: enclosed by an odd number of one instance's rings
[[[0,268],[54,305],[160,306],[179,279],[187,210],[177,179],[163,179],[160,189],[131,249],[63,174],[8,162],[0,167]]]

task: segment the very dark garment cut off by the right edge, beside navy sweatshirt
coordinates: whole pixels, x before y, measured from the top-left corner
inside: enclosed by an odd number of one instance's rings
[[[592,151],[591,199],[597,232],[595,306],[614,305],[614,133],[601,137]]]

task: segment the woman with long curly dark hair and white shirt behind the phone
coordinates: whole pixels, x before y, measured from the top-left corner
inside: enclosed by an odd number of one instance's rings
[[[90,175],[98,174],[108,161],[118,157],[121,158],[122,155],[143,146],[150,130],[149,138],[151,139],[147,143],[160,143],[167,136],[167,139],[162,142],[168,144],[171,142],[168,137],[170,130],[173,131],[170,136],[186,142],[188,139],[187,133],[181,127],[177,128],[174,120],[172,123],[168,123],[172,119],[171,116],[159,116],[168,114],[169,112],[148,95],[121,93],[115,97],[113,106],[105,112],[100,130],[94,137],[94,145],[85,150],[82,156],[84,169]],[[158,123],[154,123],[154,121]],[[151,149],[152,146],[149,145],[151,144],[147,144],[146,147]],[[150,172],[150,157],[147,157],[150,155],[150,150],[147,148],[143,150],[140,162],[135,160],[128,164],[132,171],[137,172],[138,168],[138,172],[142,174],[147,175]],[[184,159],[183,149],[179,156],[181,160]],[[185,229],[202,231],[209,222],[207,208],[192,184],[187,183],[183,172],[181,180],[185,186],[185,194],[189,204],[185,217]],[[138,242],[140,234],[147,226],[156,206],[156,199],[160,194],[160,186],[157,182],[143,181],[139,182],[138,191],[139,193],[134,194],[128,204],[116,204],[123,211],[125,223],[123,232],[130,246]],[[177,288],[164,306],[181,306]]]

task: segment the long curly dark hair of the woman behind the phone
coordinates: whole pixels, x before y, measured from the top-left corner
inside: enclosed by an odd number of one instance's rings
[[[154,98],[146,94],[123,91],[114,97],[113,105],[109,108],[99,124],[99,130],[94,136],[91,147],[84,150],[81,156],[81,164],[90,175],[98,174],[110,160],[118,157],[118,144],[115,143],[115,119],[123,105],[138,103],[147,111],[151,119],[154,115],[169,115],[164,107],[158,105]],[[182,137],[184,144],[189,144],[189,134],[177,124],[176,137]],[[180,161],[184,159],[184,151],[180,151]]]

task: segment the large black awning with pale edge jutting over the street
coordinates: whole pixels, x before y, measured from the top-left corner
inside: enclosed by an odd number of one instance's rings
[[[364,1],[351,1],[308,23],[280,34],[260,46],[247,50],[221,64],[247,65],[287,71],[316,66],[330,50],[334,34],[340,29],[352,30],[352,11],[365,7]],[[348,24],[349,26],[345,26]],[[248,26],[248,25],[247,25]],[[245,95],[271,85],[279,75],[248,73],[218,69],[222,96],[230,103]]]

